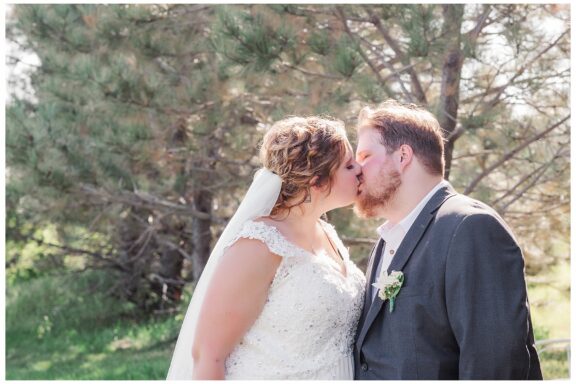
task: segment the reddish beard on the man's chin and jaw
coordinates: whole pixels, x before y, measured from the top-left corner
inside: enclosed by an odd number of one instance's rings
[[[364,188],[364,191],[356,199],[354,212],[360,217],[377,217],[379,208],[385,208],[402,185],[398,171],[383,171],[379,176],[379,184],[370,190]],[[364,186],[366,187],[366,184]]]

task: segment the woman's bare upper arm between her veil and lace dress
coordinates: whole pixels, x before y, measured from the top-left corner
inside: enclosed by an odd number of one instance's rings
[[[226,358],[262,311],[281,258],[240,239],[222,255],[209,283],[192,347],[195,379],[223,379]]]

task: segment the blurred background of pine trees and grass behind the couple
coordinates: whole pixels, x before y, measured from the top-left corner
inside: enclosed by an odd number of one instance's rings
[[[211,245],[287,115],[432,111],[446,178],[526,260],[570,351],[570,6],[6,6],[6,378],[163,379]],[[365,268],[377,221],[329,214]]]

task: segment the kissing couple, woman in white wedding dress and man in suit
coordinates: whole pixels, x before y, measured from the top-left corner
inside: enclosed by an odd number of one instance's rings
[[[444,175],[438,121],[387,101],[291,117],[195,287],[168,379],[542,379],[524,259]],[[355,153],[354,153],[355,152]],[[381,218],[366,273],[321,219]]]

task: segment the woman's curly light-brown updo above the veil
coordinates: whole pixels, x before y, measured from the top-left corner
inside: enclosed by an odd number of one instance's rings
[[[271,215],[306,201],[310,182],[328,187],[350,147],[344,123],[330,117],[289,117],[272,125],[260,148],[262,165],[282,179]]]

